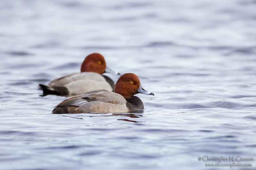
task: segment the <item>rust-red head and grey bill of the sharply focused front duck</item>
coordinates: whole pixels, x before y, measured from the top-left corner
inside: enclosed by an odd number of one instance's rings
[[[154,95],[154,93],[145,90],[141,86],[140,79],[133,73],[125,73],[118,78],[115,85],[115,93],[121,94],[125,99],[131,98],[138,93]]]

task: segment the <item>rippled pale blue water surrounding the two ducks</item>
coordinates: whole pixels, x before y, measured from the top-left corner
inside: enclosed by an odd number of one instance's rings
[[[255,169],[255,0],[1,0],[0,169]],[[138,114],[52,115],[39,83],[86,55],[155,96]],[[109,75],[115,81],[118,76]],[[230,163],[230,161],[221,161]]]

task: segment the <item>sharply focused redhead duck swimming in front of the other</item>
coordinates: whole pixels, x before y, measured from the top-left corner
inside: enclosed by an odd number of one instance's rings
[[[133,96],[138,93],[154,95],[141,86],[138,76],[126,73],[117,80],[115,92],[101,89],[70,97],[60,102],[52,113],[127,113],[142,110],[143,102]]]

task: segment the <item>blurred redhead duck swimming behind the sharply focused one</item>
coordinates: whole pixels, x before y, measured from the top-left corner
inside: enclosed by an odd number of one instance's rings
[[[77,95],[97,89],[114,91],[115,83],[105,72],[119,74],[106,66],[104,57],[93,53],[85,57],[80,73],[70,73],[52,80],[48,85],[39,84],[44,94]]]

